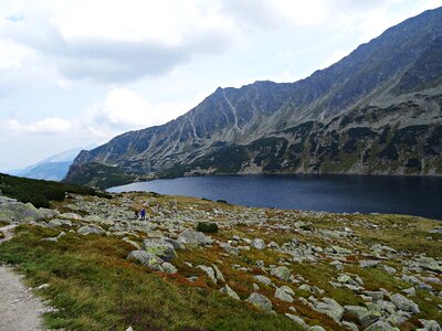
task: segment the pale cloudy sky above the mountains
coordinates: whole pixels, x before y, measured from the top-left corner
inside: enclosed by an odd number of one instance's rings
[[[0,171],[295,82],[442,0],[0,0]]]

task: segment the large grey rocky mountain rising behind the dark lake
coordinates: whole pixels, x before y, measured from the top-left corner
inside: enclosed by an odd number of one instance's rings
[[[442,8],[295,82],[218,88],[166,125],[82,151],[67,181],[210,173],[442,174]]]

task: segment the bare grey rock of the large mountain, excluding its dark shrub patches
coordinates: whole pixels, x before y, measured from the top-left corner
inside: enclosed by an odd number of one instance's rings
[[[400,153],[400,161],[398,159],[387,160],[391,163],[387,167],[385,164],[361,167],[364,158],[358,153],[365,153],[370,149],[376,157],[381,157],[377,153],[378,151],[372,150],[371,146],[379,142],[381,134],[378,132],[375,135],[376,137],[365,139],[364,141],[367,143],[364,147],[358,145],[359,150],[355,151],[356,154],[339,159],[340,162],[347,163],[352,159],[351,167],[343,168],[340,164],[325,167],[324,164],[330,163],[336,156],[318,153],[319,146],[324,142],[324,139],[318,136],[316,139],[318,141],[315,142],[316,154],[313,158],[304,156],[297,168],[291,167],[284,171],[294,173],[347,173],[350,171],[350,173],[380,174],[441,174],[442,161],[439,149],[435,148],[436,146],[432,146],[432,153],[428,153],[427,150],[423,150],[428,143],[421,141],[422,139],[432,139],[434,143],[440,142],[438,127],[441,125],[442,117],[441,104],[438,100],[442,94],[441,43],[442,8],[439,8],[389,28],[380,36],[358,46],[341,61],[325,70],[316,71],[309,77],[295,83],[261,81],[241,88],[217,88],[197,107],[172,121],[123,134],[96,149],[81,152],[71,167],[66,181],[75,182],[76,177],[82,173],[82,167],[87,163],[117,167],[123,173],[134,178],[154,173],[161,173],[161,175],[224,173],[215,167],[217,164],[209,164],[210,162],[207,162],[206,158],[207,156],[215,157],[220,147],[227,146],[224,149],[221,148],[221,152],[225,152],[229,146],[230,148],[251,147],[253,141],[273,137],[275,132],[288,130],[307,121],[315,121],[316,126],[324,127],[336,117],[341,117],[338,121],[343,122],[346,114],[357,109],[365,109],[366,113],[371,114],[373,120],[366,121],[368,127],[371,127],[377,121],[376,111],[380,111],[382,117],[389,114],[386,110],[388,107],[399,107],[407,116],[415,116],[420,120],[424,117],[433,120],[430,132],[427,132],[430,136],[414,132],[420,135],[417,136],[419,143],[414,143],[414,147],[401,146],[403,143],[398,138],[397,146],[390,149],[394,148]],[[407,103],[410,104],[407,106]],[[408,107],[418,107],[419,114],[408,111]],[[394,113],[382,118],[386,121],[396,122],[399,127],[401,121],[412,126],[413,120],[403,114]],[[347,129],[351,129],[351,122],[347,122]],[[322,135],[327,139],[338,139],[336,132],[330,130]],[[392,130],[396,131],[397,128],[392,128]],[[432,136],[433,130],[435,130],[434,137]],[[344,134],[346,130],[341,131]],[[394,134],[392,135],[394,136]],[[348,135],[339,137],[338,141],[335,141],[337,143],[337,147],[334,145],[335,149],[341,149],[348,140],[352,139],[348,138]],[[288,148],[293,148],[297,143],[286,139]],[[411,156],[412,152],[407,151],[407,149],[418,146],[421,150],[413,156]],[[274,148],[275,146],[269,147],[269,150]],[[304,149],[306,148],[312,148],[312,146],[304,143]],[[402,158],[402,156],[407,158]],[[224,157],[229,158],[229,156]],[[287,154],[284,157],[285,159],[280,160],[281,164],[291,160],[291,158],[287,159]],[[326,161],[325,163],[318,160],[320,157],[327,158],[327,160],[323,160]],[[241,156],[241,158],[243,159],[241,169],[246,166],[245,163],[252,163],[250,153]],[[273,154],[267,153],[265,158],[269,159],[269,162],[276,162]],[[296,158],[298,159],[298,156]],[[404,164],[410,159],[430,160],[424,163],[431,163],[431,166],[409,171]],[[206,160],[207,167],[200,168],[201,171],[196,171],[198,170],[196,164],[201,163],[202,160]],[[313,161],[315,164],[311,164]],[[307,162],[309,164],[306,164]],[[183,167],[188,171],[177,171]],[[265,173],[265,169],[260,170],[253,166],[248,171],[253,172],[252,169],[256,173]],[[92,177],[94,175],[96,174]]]

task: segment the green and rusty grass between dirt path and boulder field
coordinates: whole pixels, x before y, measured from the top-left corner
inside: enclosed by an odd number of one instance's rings
[[[70,233],[60,243],[40,242],[56,234],[22,225],[0,246],[0,259],[19,265],[30,286],[50,284],[40,295],[60,309],[44,316],[51,329],[296,330],[287,318],[264,314],[204,284],[126,261],[131,248],[118,238]]]

